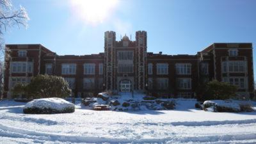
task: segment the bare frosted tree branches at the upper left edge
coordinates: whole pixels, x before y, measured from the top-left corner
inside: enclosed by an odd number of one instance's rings
[[[0,0],[0,59],[4,58],[5,51],[7,50],[4,46],[3,33],[13,26],[24,26],[27,28],[28,20],[29,17],[25,8],[20,6],[19,9],[15,9],[12,6],[11,0]]]

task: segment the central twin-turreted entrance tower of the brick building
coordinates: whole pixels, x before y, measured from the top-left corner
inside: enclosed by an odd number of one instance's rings
[[[145,90],[147,77],[147,32],[136,31],[136,40],[124,36],[116,41],[114,31],[104,38],[104,84],[106,90]]]

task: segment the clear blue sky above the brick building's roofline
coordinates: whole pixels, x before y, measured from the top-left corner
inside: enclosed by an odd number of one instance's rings
[[[103,52],[108,30],[116,31],[117,40],[125,33],[134,40],[135,31],[145,30],[148,52],[164,54],[196,54],[213,42],[256,44],[253,0],[120,0],[100,22],[84,19],[72,0],[15,0],[13,5],[26,8],[29,27],[6,31],[6,44],[42,44],[60,55]],[[93,6],[95,12],[100,4]]]

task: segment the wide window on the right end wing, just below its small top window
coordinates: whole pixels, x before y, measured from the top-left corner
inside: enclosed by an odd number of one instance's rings
[[[223,61],[222,72],[245,72],[246,61]]]

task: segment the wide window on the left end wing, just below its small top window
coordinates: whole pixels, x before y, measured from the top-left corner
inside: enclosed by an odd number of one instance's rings
[[[33,72],[33,62],[13,61],[11,62],[13,73]]]

